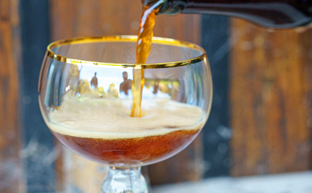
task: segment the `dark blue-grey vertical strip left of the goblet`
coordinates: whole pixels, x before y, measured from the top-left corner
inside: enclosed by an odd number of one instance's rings
[[[48,0],[20,0],[22,32],[21,104],[22,158],[27,192],[55,191],[53,135],[44,122],[38,103],[38,80],[49,44]]]

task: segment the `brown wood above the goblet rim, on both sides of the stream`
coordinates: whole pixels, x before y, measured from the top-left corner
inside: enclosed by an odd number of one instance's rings
[[[77,36],[137,35],[142,11],[139,0],[50,1],[52,41]],[[200,44],[200,15],[160,15],[154,36]]]

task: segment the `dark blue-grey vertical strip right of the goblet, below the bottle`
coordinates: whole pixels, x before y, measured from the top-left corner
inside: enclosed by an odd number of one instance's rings
[[[202,47],[212,74],[212,107],[203,128],[204,177],[228,176],[231,167],[229,138],[229,21],[226,16],[202,15]]]

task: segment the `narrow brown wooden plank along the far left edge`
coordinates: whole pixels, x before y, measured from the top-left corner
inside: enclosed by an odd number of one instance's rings
[[[22,192],[18,0],[0,0],[0,192]]]

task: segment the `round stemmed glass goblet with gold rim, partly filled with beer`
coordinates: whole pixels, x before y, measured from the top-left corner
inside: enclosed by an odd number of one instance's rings
[[[137,36],[56,41],[41,66],[42,116],[64,146],[110,166],[103,193],[147,193],[140,166],[187,147],[211,108],[204,49],[153,37],[147,64],[135,64],[136,41]],[[134,70],[144,73],[141,117],[130,116]]]

